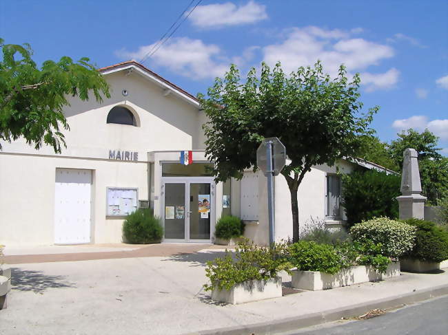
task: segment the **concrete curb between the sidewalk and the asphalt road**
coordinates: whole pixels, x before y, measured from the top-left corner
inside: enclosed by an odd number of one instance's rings
[[[350,318],[352,316],[365,314],[374,308],[384,310],[386,308],[398,307],[404,304],[417,303],[445,294],[448,294],[448,285],[440,285],[426,290],[400,294],[386,299],[359,303],[357,305],[339,307],[319,313],[305,314],[298,317],[283,318],[263,323],[252,323],[251,325],[238,325],[234,327],[203,330],[192,332],[189,335],[269,335],[281,332],[291,332],[300,328],[337,321],[341,318]]]

